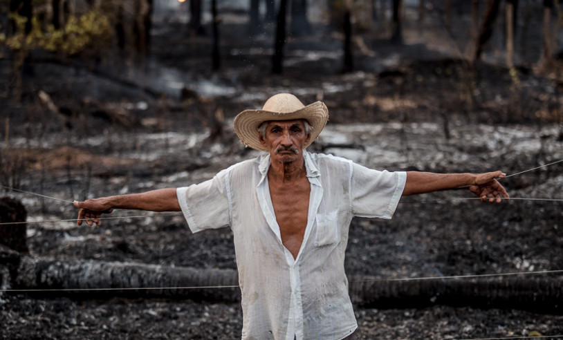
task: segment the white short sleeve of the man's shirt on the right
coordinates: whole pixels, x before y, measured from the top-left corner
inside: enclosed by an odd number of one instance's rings
[[[407,173],[378,171],[353,163],[351,209],[354,216],[391,218],[403,195]]]

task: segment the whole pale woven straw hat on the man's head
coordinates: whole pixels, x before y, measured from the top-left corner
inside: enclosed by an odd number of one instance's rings
[[[270,97],[261,110],[245,110],[234,118],[234,132],[247,147],[260,151],[269,150],[260,143],[258,127],[269,120],[306,120],[311,129],[311,138],[305,147],[318,137],[329,120],[329,109],[323,102],[314,102],[304,106],[301,101],[289,93],[279,93]]]

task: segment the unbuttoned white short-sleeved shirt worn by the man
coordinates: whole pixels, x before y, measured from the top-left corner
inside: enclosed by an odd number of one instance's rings
[[[177,189],[192,232],[230,226],[242,292],[242,339],[342,339],[358,327],[344,273],[353,216],[391,218],[405,172],[304,151],[311,183],[297,258],[282,244],[268,189],[270,155]]]

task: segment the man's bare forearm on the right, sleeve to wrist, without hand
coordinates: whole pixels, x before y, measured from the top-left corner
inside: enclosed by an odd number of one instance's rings
[[[474,173],[407,171],[407,182],[405,190],[403,190],[403,196],[474,185],[476,179],[477,175]]]

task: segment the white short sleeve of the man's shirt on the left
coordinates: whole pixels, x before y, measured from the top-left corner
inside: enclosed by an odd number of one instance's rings
[[[226,171],[210,180],[190,187],[176,189],[178,203],[192,232],[216,229],[230,225]]]

